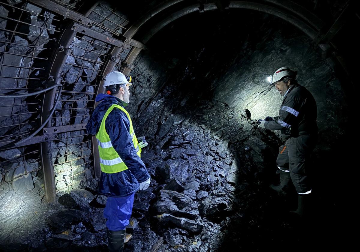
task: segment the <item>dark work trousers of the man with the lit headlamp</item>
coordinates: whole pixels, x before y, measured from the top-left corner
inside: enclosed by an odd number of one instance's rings
[[[301,135],[289,138],[284,145],[279,147],[276,165],[280,170],[290,172],[291,180],[298,194],[311,192],[309,178],[310,155],[316,145],[316,136]]]

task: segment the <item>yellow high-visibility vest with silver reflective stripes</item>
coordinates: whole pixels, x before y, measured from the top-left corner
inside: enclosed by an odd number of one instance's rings
[[[110,112],[115,108],[123,111],[126,114],[127,118],[129,119],[130,122],[129,134],[132,138],[132,143],[134,144],[134,148],[136,149],[136,154],[138,154],[139,157],[141,153],[141,148],[139,146],[138,139],[136,138],[134,128],[132,127],[132,122],[129,113],[127,113],[127,111],[120,105],[117,104],[111,105],[106,111],[103,120],[101,121],[99,132],[95,135],[96,139],[98,140],[100,168],[102,172],[105,173],[116,173],[127,169],[127,166],[122,161],[116,150],[113,148],[109,134],[106,132],[105,129],[106,118],[108,117]]]

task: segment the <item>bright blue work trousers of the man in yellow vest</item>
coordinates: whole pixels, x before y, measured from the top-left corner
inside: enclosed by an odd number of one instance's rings
[[[104,209],[104,218],[107,219],[106,226],[109,230],[124,230],[129,225],[134,195],[135,193],[126,197],[108,197]]]

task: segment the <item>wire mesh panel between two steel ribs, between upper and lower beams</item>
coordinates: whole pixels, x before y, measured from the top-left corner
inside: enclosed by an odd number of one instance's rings
[[[86,123],[94,103],[96,79],[111,46],[77,33],[62,69],[63,91],[52,126]]]

